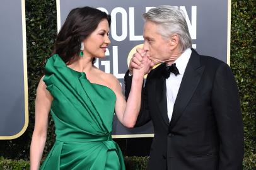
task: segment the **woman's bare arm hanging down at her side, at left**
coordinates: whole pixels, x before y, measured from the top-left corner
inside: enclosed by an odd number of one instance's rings
[[[43,78],[37,87],[37,97],[35,99],[35,128],[30,145],[30,169],[39,169],[42,154],[44,152],[45,140],[47,136],[48,116],[52,95],[46,89]]]

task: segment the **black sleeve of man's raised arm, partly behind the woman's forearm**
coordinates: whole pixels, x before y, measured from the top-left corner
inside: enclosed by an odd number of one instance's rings
[[[149,74],[148,74],[148,77],[149,77]],[[143,88],[141,93],[141,110],[139,111],[139,115],[137,117],[137,122],[135,127],[141,127],[151,120],[151,116],[148,109],[147,81],[146,81],[145,87],[144,88],[141,87]],[[131,91],[131,86],[132,86],[132,76],[129,76],[129,71],[125,73],[124,84],[125,84],[125,99],[127,101],[129,97],[129,93]]]

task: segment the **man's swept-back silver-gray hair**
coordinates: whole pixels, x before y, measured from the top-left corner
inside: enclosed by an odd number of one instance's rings
[[[192,47],[192,39],[182,9],[175,6],[161,5],[149,9],[147,13],[143,14],[143,18],[146,21],[156,23],[158,31],[163,38],[168,39],[173,34],[177,34],[180,52],[184,52],[187,48]]]

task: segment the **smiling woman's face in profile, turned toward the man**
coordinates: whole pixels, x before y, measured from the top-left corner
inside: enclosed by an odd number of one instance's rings
[[[107,46],[110,44],[108,38],[108,21],[103,19],[86,39],[84,39],[84,57],[105,57]]]

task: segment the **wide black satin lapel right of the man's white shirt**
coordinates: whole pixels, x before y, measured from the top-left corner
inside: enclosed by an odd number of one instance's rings
[[[171,128],[177,123],[178,118],[180,118],[183,110],[185,110],[185,107],[189,103],[201,79],[202,72],[204,72],[204,66],[200,64],[200,56],[192,49],[192,54],[185,69],[180,89],[178,90],[177,98],[173,106],[173,115],[170,122]]]

